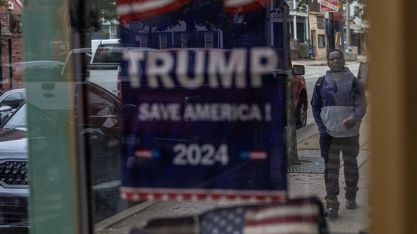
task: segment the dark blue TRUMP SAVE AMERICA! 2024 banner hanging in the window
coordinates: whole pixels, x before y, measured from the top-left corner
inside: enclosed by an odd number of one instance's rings
[[[127,2],[119,9],[139,9]],[[152,2],[121,15],[122,198],[283,199],[287,78],[276,72],[278,50],[263,40],[232,47],[226,1]],[[156,12],[158,2],[169,10]],[[260,7],[242,14],[262,18]]]

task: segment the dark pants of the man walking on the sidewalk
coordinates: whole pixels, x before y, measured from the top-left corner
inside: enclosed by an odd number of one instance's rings
[[[332,137],[327,132],[320,134],[320,149],[324,158],[324,183],[326,184],[327,208],[339,208],[339,167],[340,152],[344,163],[344,178],[346,181],[345,198],[356,199],[358,191],[358,162],[359,135],[354,137]]]

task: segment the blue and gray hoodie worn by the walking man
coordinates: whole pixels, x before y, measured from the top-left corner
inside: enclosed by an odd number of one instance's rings
[[[328,132],[332,137],[359,135],[359,127],[367,109],[365,88],[358,80],[357,92],[353,89],[353,73],[344,67],[344,77],[335,80],[328,70],[320,88],[320,97],[314,87],[311,107],[319,132]],[[316,85],[314,85],[316,86]],[[354,127],[346,129],[342,122],[347,117],[355,121]]]

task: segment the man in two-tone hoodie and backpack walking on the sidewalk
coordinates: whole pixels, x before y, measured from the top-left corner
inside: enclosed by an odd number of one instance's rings
[[[324,157],[326,184],[326,217],[338,217],[340,152],[346,180],[346,208],[356,208],[358,191],[359,127],[367,109],[365,89],[349,68],[343,53],[330,50],[327,54],[330,70],[317,80],[311,99],[314,120],[319,127],[320,149]]]

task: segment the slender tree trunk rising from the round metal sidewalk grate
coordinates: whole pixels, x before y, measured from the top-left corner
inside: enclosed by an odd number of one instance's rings
[[[285,7],[284,22],[283,22],[283,35],[284,35],[284,70],[292,70],[291,55],[289,55],[289,41],[291,40],[291,31],[288,27],[287,17],[288,17],[288,7]],[[286,42],[286,43],[285,43]],[[295,105],[294,105],[294,78],[292,77],[292,72],[288,72],[288,82],[285,86],[285,95],[286,95],[286,120],[287,120],[287,129],[286,129],[286,164],[288,166],[300,165],[301,162],[298,159],[297,154],[297,137],[296,137],[296,125],[295,125]]]

